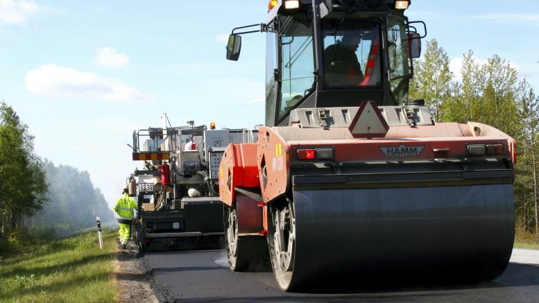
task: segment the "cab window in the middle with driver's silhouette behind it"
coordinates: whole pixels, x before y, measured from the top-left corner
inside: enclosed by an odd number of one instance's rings
[[[322,28],[325,87],[382,84],[377,19],[324,20]]]

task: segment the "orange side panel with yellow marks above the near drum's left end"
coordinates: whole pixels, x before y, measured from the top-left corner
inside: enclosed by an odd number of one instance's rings
[[[290,148],[273,128],[258,130],[258,173],[264,202],[281,196],[289,183]]]

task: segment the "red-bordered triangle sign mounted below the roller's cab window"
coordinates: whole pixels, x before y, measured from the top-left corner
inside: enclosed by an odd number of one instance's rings
[[[348,129],[354,138],[370,139],[385,137],[389,125],[382,116],[382,112],[378,110],[375,101],[363,101]]]

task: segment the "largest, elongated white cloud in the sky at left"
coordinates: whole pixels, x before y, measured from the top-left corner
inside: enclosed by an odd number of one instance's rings
[[[100,77],[90,71],[46,64],[26,73],[28,91],[44,96],[92,98],[112,102],[154,102],[155,96],[143,94],[121,80]]]

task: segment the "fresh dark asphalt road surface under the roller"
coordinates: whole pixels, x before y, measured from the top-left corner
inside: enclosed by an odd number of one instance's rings
[[[513,250],[493,282],[348,287],[284,293],[273,272],[231,272],[224,250],[146,252],[142,263],[166,302],[539,302],[539,250]]]

